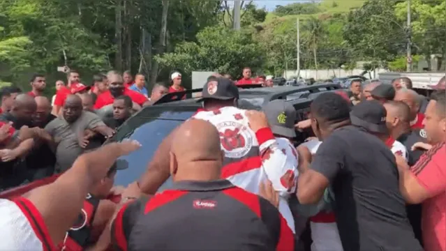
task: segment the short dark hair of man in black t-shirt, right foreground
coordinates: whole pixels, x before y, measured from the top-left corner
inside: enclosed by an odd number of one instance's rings
[[[310,106],[311,114],[325,123],[336,123],[350,119],[350,105],[339,94],[322,93]]]

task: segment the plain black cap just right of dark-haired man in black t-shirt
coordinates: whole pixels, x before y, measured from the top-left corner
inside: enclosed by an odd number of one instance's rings
[[[359,126],[369,132],[387,133],[385,107],[377,100],[364,100],[352,108],[350,121],[353,126]]]

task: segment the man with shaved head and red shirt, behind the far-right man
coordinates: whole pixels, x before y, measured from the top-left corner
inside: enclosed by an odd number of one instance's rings
[[[416,91],[400,89],[395,93],[395,101],[405,102],[410,108],[410,127],[412,129],[423,129],[424,114],[419,112],[422,97]]]

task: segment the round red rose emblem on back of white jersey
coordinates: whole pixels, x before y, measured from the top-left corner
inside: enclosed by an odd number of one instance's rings
[[[220,132],[220,141],[225,157],[241,158],[253,146],[253,137],[246,126],[236,121],[225,121],[216,124]]]

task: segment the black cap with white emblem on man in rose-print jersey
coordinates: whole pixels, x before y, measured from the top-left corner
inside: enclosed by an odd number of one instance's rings
[[[239,98],[239,89],[232,80],[225,77],[210,78],[203,86],[202,96],[198,102],[207,99],[231,100]]]

